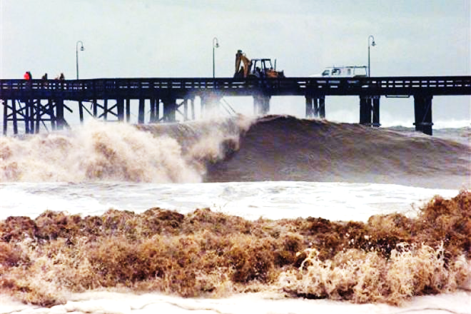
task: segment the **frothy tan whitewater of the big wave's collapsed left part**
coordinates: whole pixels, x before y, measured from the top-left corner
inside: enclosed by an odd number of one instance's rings
[[[206,124],[201,132],[191,123],[136,128],[126,123],[88,121],[67,132],[3,137],[0,182],[201,182],[205,163],[224,158],[228,149],[237,149],[241,130],[237,122]],[[228,124],[231,133],[224,128]],[[184,132],[172,137],[172,128],[183,128]],[[188,133],[191,128],[193,134]]]

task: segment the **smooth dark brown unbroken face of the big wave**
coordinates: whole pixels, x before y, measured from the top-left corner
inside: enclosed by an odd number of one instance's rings
[[[470,146],[456,141],[358,124],[265,116],[240,138],[240,149],[233,156],[209,166],[206,180],[347,181],[460,189],[470,186],[470,166]]]

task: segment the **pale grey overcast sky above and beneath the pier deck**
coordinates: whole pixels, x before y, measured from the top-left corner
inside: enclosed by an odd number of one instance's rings
[[[0,0],[0,78],[75,78],[79,40],[81,78],[209,77],[215,36],[216,76],[233,76],[238,49],[309,76],[367,65],[370,35],[372,76],[469,76],[470,19],[470,0]],[[300,116],[304,100],[272,109]],[[358,99],[327,98],[326,111],[358,121]],[[382,98],[381,116],[412,123],[412,98]],[[471,121],[471,98],[435,97],[433,119]]]

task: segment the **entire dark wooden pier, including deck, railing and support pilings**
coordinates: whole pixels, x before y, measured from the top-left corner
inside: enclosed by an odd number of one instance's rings
[[[272,96],[304,96],[305,115],[325,118],[326,96],[358,96],[359,123],[380,126],[380,98],[412,97],[415,130],[432,135],[433,96],[471,95],[471,76],[391,76],[355,78],[96,78],[83,80],[0,80],[3,134],[39,133],[68,126],[64,112],[103,121],[138,123],[195,118],[224,96],[252,96],[255,113],[270,112]],[[146,115],[146,113],[150,113]],[[146,116],[149,116],[148,121]]]

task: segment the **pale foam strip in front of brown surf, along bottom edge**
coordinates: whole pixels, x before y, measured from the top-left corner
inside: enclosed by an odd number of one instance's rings
[[[353,304],[333,300],[284,298],[278,293],[244,293],[228,298],[179,298],[158,293],[136,295],[106,291],[71,295],[65,305],[35,308],[11,303],[0,305],[0,313],[471,313],[471,293],[457,291],[442,295],[425,295],[406,301],[401,307],[378,304]]]

